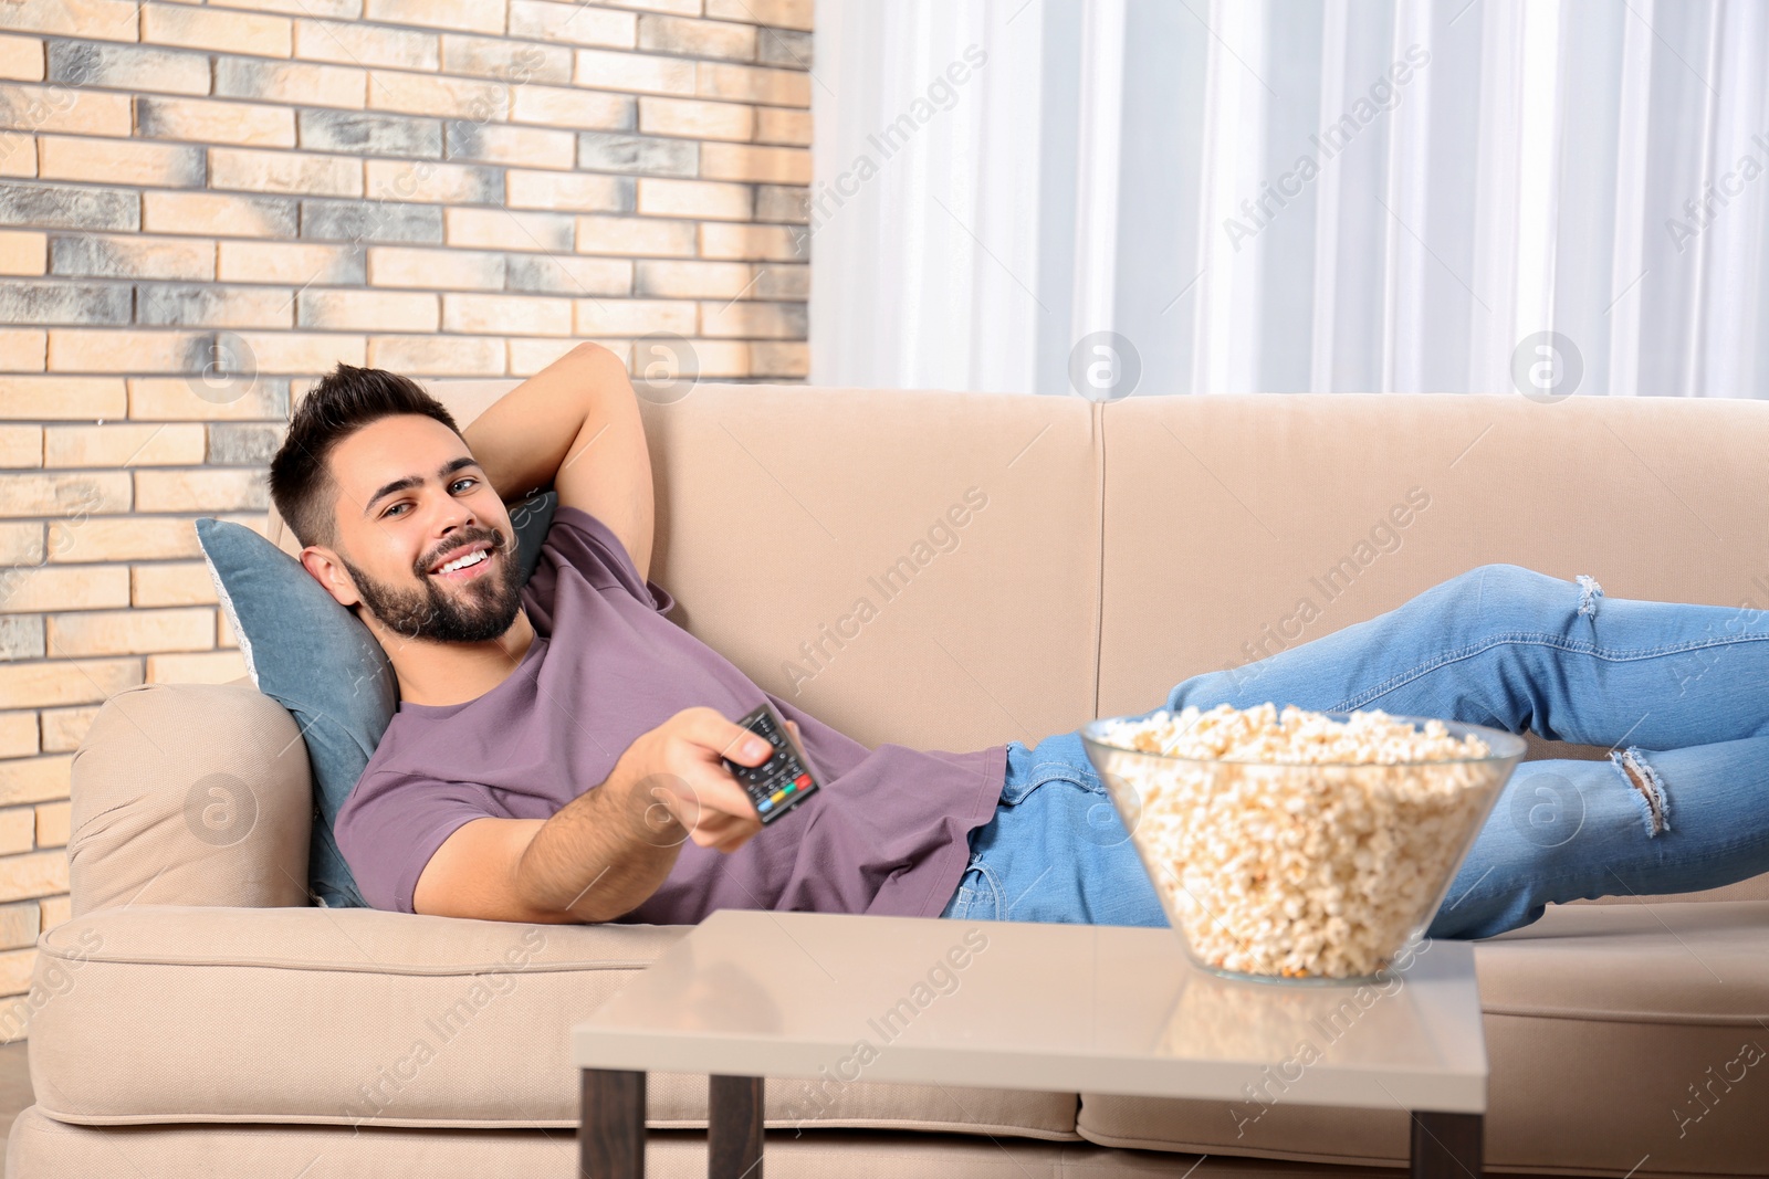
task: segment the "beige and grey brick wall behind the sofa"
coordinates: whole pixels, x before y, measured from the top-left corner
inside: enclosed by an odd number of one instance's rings
[[[810,11],[0,0],[0,997],[97,705],[244,675],[191,521],[262,529],[317,375],[803,377]]]

